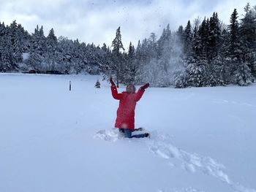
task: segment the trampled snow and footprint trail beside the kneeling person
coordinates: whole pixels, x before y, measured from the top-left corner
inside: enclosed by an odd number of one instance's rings
[[[116,128],[100,130],[94,134],[94,138],[103,139],[108,142],[116,142],[119,139],[124,139]],[[151,139],[143,140],[143,143],[145,143],[149,147],[149,150],[155,155],[170,160],[170,162],[167,163],[170,167],[181,166],[182,169],[191,173],[197,171],[203,172],[203,174],[216,177],[226,183],[230,188],[233,188],[234,191],[256,192],[255,189],[246,188],[243,185],[234,183],[230,180],[224,171],[225,166],[219,164],[214,158],[199,155],[197,153],[189,153],[173,145],[171,140],[171,137],[167,134],[153,131],[151,132]],[[190,191],[195,191],[195,189]]]

